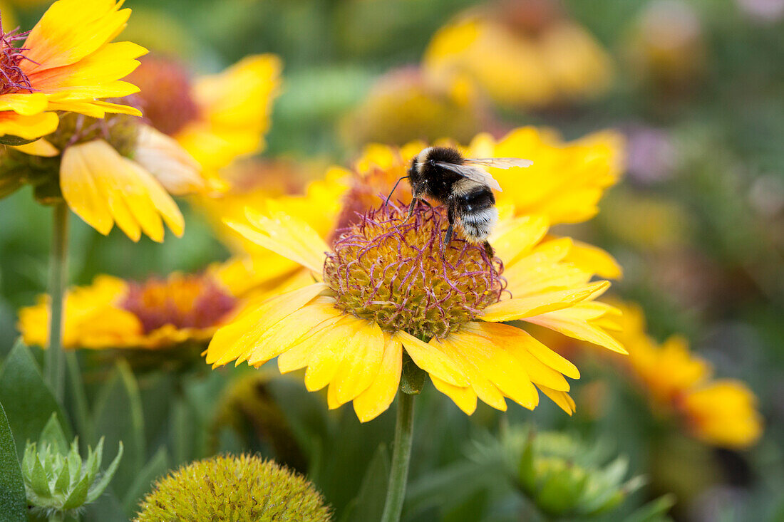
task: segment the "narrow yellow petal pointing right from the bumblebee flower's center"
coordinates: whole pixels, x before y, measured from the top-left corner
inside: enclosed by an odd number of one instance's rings
[[[600,281],[582,288],[568,288],[566,290],[544,292],[521,299],[507,299],[506,301],[494,303],[482,310],[482,315],[479,318],[483,321],[500,323],[516,321],[524,317],[545,314],[554,310],[562,310],[572,306],[574,303],[588,299],[595,292],[609,286],[609,281]]]

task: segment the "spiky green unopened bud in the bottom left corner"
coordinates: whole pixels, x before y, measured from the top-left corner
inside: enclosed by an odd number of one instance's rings
[[[122,458],[122,442],[117,456],[104,473],[99,473],[103,459],[103,437],[95,451],[87,448],[87,459],[79,456],[78,439],[67,453],[56,440],[27,443],[22,459],[27,504],[44,517],[55,513],[73,515],[94,502],[107,488]]]

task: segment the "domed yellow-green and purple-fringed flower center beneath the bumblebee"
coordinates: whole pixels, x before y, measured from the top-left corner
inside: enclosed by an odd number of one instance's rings
[[[442,257],[444,208],[420,203],[404,222],[407,213],[389,205],[361,216],[336,239],[324,280],[340,310],[387,332],[441,339],[499,301],[503,266],[459,237]]]

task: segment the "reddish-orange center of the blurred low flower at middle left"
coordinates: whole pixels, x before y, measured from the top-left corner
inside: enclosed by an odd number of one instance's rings
[[[237,299],[204,274],[172,274],[131,283],[120,306],[136,315],[144,333],[165,324],[176,328],[210,328],[234,310]]]

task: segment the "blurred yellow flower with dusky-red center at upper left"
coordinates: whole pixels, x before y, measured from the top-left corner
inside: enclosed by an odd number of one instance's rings
[[[235,158],[263,148],[280,71],[278,56],[261,54],[191,81],[180,64],[149,57],[131,78],[142,89],[143,112],[152,125],[217,176]],[[219,178],[212,181],[220,188]]]

